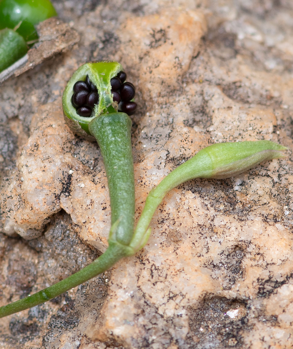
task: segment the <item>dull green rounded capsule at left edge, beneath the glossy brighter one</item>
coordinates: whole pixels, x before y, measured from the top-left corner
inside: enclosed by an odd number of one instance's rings
[[[0,30],[0,72],[28,52],[24,38],[12,29]]]

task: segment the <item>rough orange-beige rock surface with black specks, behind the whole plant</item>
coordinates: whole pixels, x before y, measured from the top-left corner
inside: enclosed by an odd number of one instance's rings
[[[0,87],[0,305],[107,246],[102,158],[61,110],[84,62],[119,60],[137,87],[136,218],[151,188],[209,144],[267,139],[287,146],[287,157],[176,188],[142,251],[1,319],[0,348],[292,348],[291,2],[54,5],[81,42]]]

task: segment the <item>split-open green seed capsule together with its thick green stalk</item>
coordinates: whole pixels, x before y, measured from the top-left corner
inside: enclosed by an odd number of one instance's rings
[[[86,139],[96,139],[99,144],[108,180],[112,226],[119,221],[111,230],[111,239],[127,246],[135,211],[132,121],[126,113],[118,112],[112,93],[117,87],[115,79],[111,82],[114,77],[119,82],[117,75],[122,71],[118,62],[84,64],[69,80],[62,103],[65,121],[72,131]]]

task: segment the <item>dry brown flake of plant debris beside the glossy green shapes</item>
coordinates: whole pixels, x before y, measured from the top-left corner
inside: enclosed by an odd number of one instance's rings
[[[68,23],[52,17],[37,25],[39,41],[28,53],[0,73],[0,83],[10,76],[18,76],[57,53],[67,51],[80,37]]]

